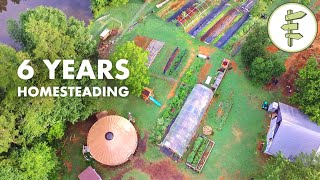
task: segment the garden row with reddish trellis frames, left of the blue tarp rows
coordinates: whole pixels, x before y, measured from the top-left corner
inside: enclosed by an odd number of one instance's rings
[[[183,26],[184,29],[186,29],[189,25],[194,23],[194,21],[200,17],[202,14],[204,14],[213,4],[212,0],[197,0],[191,7],[195,6],[194,9],[192,9],[189,13],[184,14],[185,11],[181,13],[184,17],[181,20],[177,20],[177,22]],[[200,13],[199,13],[200,12]],[[194,13],[198,13],[194,18],[192,18]],[[183,21],[186,20],[186,23],[183,23]]]

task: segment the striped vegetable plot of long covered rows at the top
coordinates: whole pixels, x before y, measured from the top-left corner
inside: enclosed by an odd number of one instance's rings
[[[200,8],[201,3],[210,7]],[[202,42],[212,43],[216,47],[222,48],[241,26],[248,21],[249,11],[255,4],[255,0],[247,0],[243,5],[236,8],[232,8],[232,5],[228,3],[229,0],[223,0],[219,5],[215,6],[212,1],[208,0],[189,0],[167,18],[167,21],[177,22],[177,26],[188,27],[185,30],[188,30],[192,37],[196,38],[200,35]],[[203,14],[206,15],[204,16]]]

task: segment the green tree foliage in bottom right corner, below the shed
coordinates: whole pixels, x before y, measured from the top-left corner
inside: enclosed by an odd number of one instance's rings
[[[257,179],[319,179],[320,156],[301,154],[294,162],[282,155],[272,157]]]

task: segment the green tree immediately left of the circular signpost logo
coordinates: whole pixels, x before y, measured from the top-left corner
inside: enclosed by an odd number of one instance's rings
[[[246,38],[246,42],[241,48],[241,59],[246,66],[257,57],[265,58],[267,56],[266,45],[269,42],[266,26],[257,26]]]

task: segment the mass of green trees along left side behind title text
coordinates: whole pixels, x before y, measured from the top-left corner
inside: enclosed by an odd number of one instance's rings
[[[60,166],[55,146],[66,123],[86,119],[97,111],[93,98],[19,98],[19,86],[99,86],[89,79],[63,80],[62,67],[50,80],[43,59],[95,58],[96,42],[84,22],[67,18],[57,9],[38,7],[8,22],[10,36],[22,51],[0,45],[0,177],[5,179],[48,179]],[[24,59],[31,59],[35,75],[21,80],[16,72]]]

